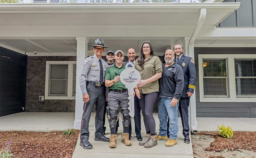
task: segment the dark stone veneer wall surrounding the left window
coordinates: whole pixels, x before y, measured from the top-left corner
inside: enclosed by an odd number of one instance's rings
[[[27,112],[75,112],[75,100],[44,100],[46,61],[76,61],[76,56],[28,56]]]

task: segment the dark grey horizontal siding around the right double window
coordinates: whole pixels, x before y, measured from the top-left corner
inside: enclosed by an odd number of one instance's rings
[[[196,117],[256,117],[255,102],[200,102],[198,54],[241,54],[242,56],[243,54],[256,54],[256,48],[195,48],[194,59],[196,67]]]

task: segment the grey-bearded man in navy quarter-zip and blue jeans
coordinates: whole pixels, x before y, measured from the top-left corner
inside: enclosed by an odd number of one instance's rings
[[[167,49],[164,55],[165,64],[163,64],[162,77],[159,79],[159,102],[158,118],[159,134],[157,140],[167,140],[167,117],[169,117],[170,138],[165,142],[165,146],[172,147],[177,144],[179,133],[178,107],[181,92],[184,87],[183,71],[177,63],[173,62],[174,52]]]

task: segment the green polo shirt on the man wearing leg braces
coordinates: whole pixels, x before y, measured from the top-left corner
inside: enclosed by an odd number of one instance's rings
[[[124,64],[121,67],[117,67],[116,64],[113,66],[107,68],[105,73],[105,80],[112,80],[115,79],[116,76],[120,76],[120,73],[125,69]],[[124,84],[121,81],[117,81],[114,85],[111,87],[108,87],[108,89],[127,89]]]

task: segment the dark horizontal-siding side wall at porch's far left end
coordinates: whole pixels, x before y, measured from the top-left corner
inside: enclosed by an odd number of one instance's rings
[[[25,108],[27,56],[0,47],[0,116]]]

